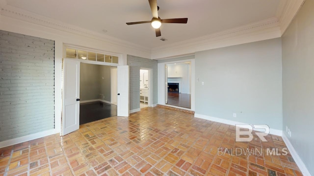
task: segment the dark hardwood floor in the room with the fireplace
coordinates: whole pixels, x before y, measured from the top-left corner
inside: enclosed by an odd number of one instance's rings
[[[168,105],[191,108],[191,94],[168,92]]]

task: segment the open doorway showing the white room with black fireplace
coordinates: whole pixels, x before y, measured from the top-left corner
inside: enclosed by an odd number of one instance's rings
[[[191,62],[166,65],[166,104],[191,109]]]

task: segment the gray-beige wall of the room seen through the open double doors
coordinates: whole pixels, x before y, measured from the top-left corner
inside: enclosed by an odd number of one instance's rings
[[[110,66],[80,64],[79,96],[81,101],[103,98],[110,102],[110,89]]]

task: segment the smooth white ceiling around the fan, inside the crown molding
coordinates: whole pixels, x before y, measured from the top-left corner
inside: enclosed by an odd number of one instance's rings
[[[153,49],[279,18],[285,0],[157,0],[161,19],[188,18],[187,24],[162,24],[161,37],[155,36],[150,23],[126,24],[152,19],[148,0],[6,0],[6,4]]]

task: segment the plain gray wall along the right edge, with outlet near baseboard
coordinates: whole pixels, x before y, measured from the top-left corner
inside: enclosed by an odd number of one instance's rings
[[[282,37],[283,131],[314,176],[314,1],[307,0]],[[291,137],[286,132],[291,131]]]

